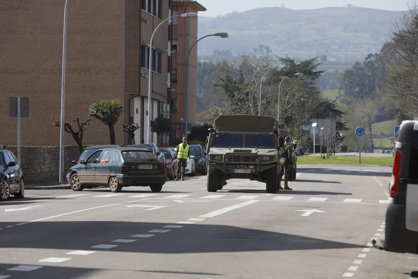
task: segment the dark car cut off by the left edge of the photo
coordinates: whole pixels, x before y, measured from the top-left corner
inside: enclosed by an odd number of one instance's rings
[[[8,150],[0,149],[0,201],[7,200],[10,195],[16,199],[25,196],[23,173],[20,170],[15,154]]]

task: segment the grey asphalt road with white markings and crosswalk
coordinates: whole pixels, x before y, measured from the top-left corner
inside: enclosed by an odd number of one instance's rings
[[[0,204],[0,278],[409,278],[418,256],[371,247],[389,167],[299,167],[293,191],[206,177],[160,193],[28,190]],[[283,182],[282,182],[283,183]],[[7,277],[10,276],[10,277]]]

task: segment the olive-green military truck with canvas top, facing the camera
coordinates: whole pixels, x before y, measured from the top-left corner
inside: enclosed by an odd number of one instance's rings
[[[226,180],[243,178],[266,183],[277,192],[280,138],[277,120],[262,115],[219,115],[209,129],[207,191],[222,189]]]

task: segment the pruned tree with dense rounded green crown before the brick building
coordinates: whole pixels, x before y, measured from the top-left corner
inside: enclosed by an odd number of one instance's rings
[[[119,100],[99,100],[89,106],[89,114],[109,126],[110,144],[115,144],[115,124],[123,105]]]

